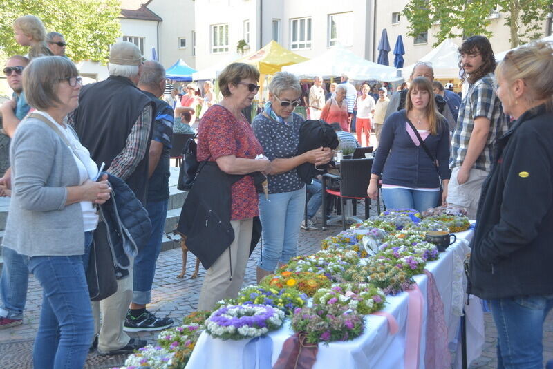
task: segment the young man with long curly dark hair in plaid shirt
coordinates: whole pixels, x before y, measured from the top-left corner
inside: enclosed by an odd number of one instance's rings
[[[496,61],[488,39],[469,37],[459,53],[462,78],[469,88],[451,140],[447,202],[467,209],[467,216],[475,219],[480,188],[494,160],[494,145],[507,131],[507,119],[496,95]]]

